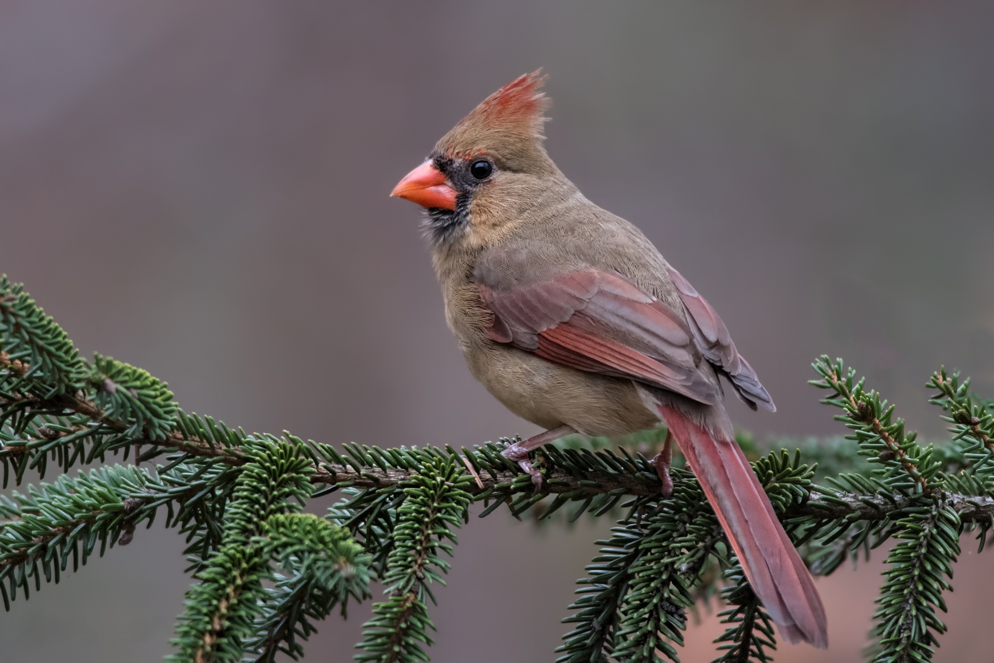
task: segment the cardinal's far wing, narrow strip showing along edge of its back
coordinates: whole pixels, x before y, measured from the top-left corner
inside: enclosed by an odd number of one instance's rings
[[[711,304],[698,294],[694,286],[683,275],[670,267],[670,277],[680,294],[684,312],[690,323],[694,341],[705,359],[721,369],[729,377],[736,394],[752,410],[756,406],[769,412],[776,412],[769,394],[759,384],[755,371],[736,350],[728,327],[718,317]]]

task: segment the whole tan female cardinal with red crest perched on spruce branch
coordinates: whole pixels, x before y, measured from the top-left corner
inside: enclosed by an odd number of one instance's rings
[[[641,232],[583,198],[542,145],[539,72],[487,97],[392,196],[427,208],[445,314],[469,370],[514,414],[608,437],[666,422],[756,594],[790,642],[828,645],[825,610],[745,460],[719,376],[773,402],[715,310]],[[655,458],[672,490],[666,450]]]

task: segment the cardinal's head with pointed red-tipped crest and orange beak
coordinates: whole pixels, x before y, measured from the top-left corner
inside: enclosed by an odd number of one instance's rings
[[[435,245],[497,234],[548,190],[559,170],[542,145],[543,83],[540,70],[488,96],[394,188],[391,196],[427,210]]]

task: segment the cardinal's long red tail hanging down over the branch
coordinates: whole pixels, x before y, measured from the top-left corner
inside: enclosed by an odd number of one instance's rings
[[[769,498],[734,440],[716,440],[686,414],[660,407],[718,514],[745,578],[787,642],[828,647],[825,608]]]

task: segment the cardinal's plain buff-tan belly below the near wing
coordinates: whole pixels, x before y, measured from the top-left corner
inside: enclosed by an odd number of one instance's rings
[[[564,423],[615,436],[659,422],[630,380],[577,371],[512,346],[467,348],[473,376],[512,413],[546,428]]]

